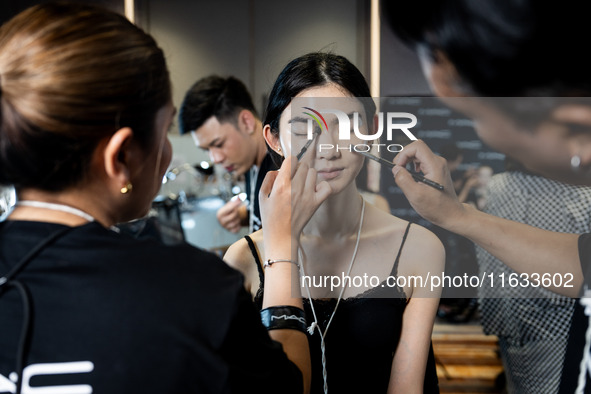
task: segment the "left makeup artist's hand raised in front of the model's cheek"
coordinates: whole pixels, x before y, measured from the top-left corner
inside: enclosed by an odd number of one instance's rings
[[[279,171],[265,176],[259,194],[265,243],[271,238],[297,242],[304,226],[331,193],[323,181],[316,185],[316,170],[295,156],[286,158]]]

